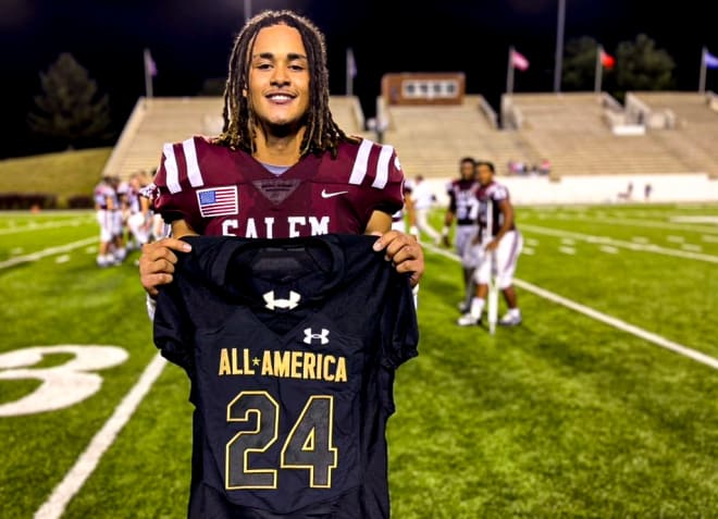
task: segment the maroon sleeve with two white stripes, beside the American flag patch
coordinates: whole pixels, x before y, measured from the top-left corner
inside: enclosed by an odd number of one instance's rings
[[[162,147],[160,165],[154,176],[152,209],[166,223],[185,220],[193,230],[201,233],[203,221],[197,202],[196,188],[203,185],[197,161],[196,139],[168,143]]]

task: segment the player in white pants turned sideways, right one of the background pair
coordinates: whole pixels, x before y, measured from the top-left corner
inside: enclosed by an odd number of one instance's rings
[[[513,206],[509,199],[506,186],[494,180],[495,169],[492,162],[476,164],[480,187],[476,193],[479,199],[479,232],[472,240],[471,252],[476,258],[474,281],[476,291],[471,300],[469,311],[457,321],[460,326],[470,326],[481,323],[484,311],[488,283],[492,276],[492,254],[495,255],[496,280],[498,288],[504,294],[507,313],[498,321],[504,326],[521,324],[521,310],[519,309],[516,289],[513,288],[513,274],[523,248],[523,237],[516,226]],[[487,230],[488,201],[491,200],[493,228]]]

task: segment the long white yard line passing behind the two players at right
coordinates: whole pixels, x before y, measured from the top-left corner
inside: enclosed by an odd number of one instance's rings
[[[440,249],[430,244],[423,244],[423,246],[424,248],[433,252],[450,258],[454,261],[459,261],[459,258],[453,252]],[[596,321],[603,322],[604,324],[608,324],[609,326],[620,330],[621,332],[630,333],[631,335],[634,335],[639,338],[653,343],[656,346],[660,346],[661,348],[669,349],[676,354],[682,355],[684,357],[695,360],[696,362],[701,362],[702,364],[709,366],[710,368],[718,370],[718,359],[710,357],[709,355],[689,348],[688,346],[683,346],[682,344],[674,343],[673,341],[670,341],[658,334],[648,332],[647,330],[644,330],[634,324],[617,319],[612,316],[608,316],[607,313],[601,312],[598,310],[594,310],[593,308],[587,307],[585,305],[581,305],[580,302],[573,301],[571,299],[567,299],[564,296],[559,296],[558,294],[541,288],[540,286],[536,286],[527,281],[515,279],[513,283],[516,284],[516,286],[519,286],[524,291],[530,292],[538,297],[547,299],[552,302],[556,302],[557,305],[561,305],[566,308],[570,308],[573,311],[582,313]]]

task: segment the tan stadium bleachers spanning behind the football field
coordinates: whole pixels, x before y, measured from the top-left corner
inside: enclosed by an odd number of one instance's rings
[[[718,175],[718,112],[714,95],[629,92],[627,106],[605,92],[513,94],[503,99],[500,128],[480,95],[453,106],[387,106],[384,141],[398,151],[407,176],[448,178],[463,156],[492,160],[499,175],[509,161],[550,161],[553,180],[595,175]],[[366,129],[357,97],[332,96],[337,123]],[[103,174],[126,177],[151,171],[166,141],[193,134],[215,135],[222,126],[221,97],[140,98],[106,164]],[[617,121],[619,123],[617,123]],[[616,124],[641,132],[617,135]],[[628,127],[626,126],[626,127]]]

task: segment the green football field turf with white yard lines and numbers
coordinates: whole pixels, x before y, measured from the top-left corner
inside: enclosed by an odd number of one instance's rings
[[[435,214],[438,224],[441,214]],[[517,208],[523,324],[456,326],[426,246],[397,519],[718,517],[718,205]],[[0,214],[0,517],[182,518],[188,381],[89,212]]]

